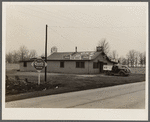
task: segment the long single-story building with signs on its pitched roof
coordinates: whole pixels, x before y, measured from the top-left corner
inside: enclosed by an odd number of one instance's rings
[[[31,66],[34,60],[20,61],[20,71],[36,71]],[[111,61],[102,51],[101,47],[97,47],[97,51],[86,52],[54,52],[47,57],[47,72],[49,73],[78,73],[78,74],[94,74],[102,73],[103,65],[113,65],[117,62]],[[42,70],[45,71],[44,69]]]

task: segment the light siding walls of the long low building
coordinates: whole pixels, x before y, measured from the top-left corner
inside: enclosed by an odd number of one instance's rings
[[[106,62],[108,65],[113,65],[99,55],[96,59],[92,61],[84,61],[84,68],[76,68],[76,61],[64,61],[64,68],[60,67],[60,61],[47,61],[47,72],[49,73],[74,73],[74,74],[97,74],[99,73],[99,68],[93,68],[93,62]],[[27,62],[27,67],[23,67],[23,62],[20,63],[20,71],[32,71],[35,72],[36,69],[31,66],[32,62]],[[42,70],[44,72],[44,69]]]

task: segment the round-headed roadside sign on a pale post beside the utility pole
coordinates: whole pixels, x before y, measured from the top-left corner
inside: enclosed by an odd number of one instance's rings
[[[38,72],[38,85],[40,85],[40,73],[43,68],[47,66],[47,63],[43,59],[36,59],[31,63],[31,65],[37,70]]]

